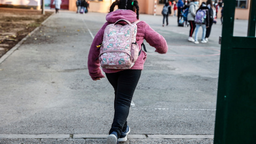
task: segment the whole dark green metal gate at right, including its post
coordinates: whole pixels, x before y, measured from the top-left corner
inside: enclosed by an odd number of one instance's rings
[[[225,0],[215,144],[256,143],[256,0],[250,1],[247,37],[233,36],[235,4]]]

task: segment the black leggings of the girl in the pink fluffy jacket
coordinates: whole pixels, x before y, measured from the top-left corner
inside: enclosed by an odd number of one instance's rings
[[[115,90],[115,115],[109,134],[117,132],[119,138],[122,131],[126,130],[126,119],[132,102],[132,96],[139,82],[141,70],[127,69],[117,73],[106,73],[108,81]],[[124,130],[123,130],[124,128]]]

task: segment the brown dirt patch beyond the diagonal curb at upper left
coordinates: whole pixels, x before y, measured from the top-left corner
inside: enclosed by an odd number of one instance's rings
[[[53,12],[0,8],[0,57],[27,36]]]

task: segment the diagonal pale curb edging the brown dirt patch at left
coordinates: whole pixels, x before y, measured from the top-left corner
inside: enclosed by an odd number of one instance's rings
[[[53,13],[53,14],[54,14],[54,13]],[[44,20],[44,21],[41,23],[41,25],[40,25],[39,27],[41,27],[42,25],[44,25],[44,23],[45,23],[47,20],[49,20],[50,17],[52,17],[53,14],[51,14],[46,20]],[[24,41],[27,40],[27,38],[29,37],[29,35],[30,35],[30,36],[33,35],[33,34],[35,33],[35,31],[37,31],[37,30],[39,29],[39,27],[35,28],[35,29],[34,29],[33,31],[31,31],[31,33],[29,33],[26,37],[22,38],[21,41],[20,41],[18,44],[16,44],[15,46],[13,46],[12,49],[10,49],[9,51],[7,51],[7,52],[0,58],[0,64],[1,64],[5,59],[7,59],[15,50],[17,50],[17,49],[20,47],[20,45],[21,45]]]

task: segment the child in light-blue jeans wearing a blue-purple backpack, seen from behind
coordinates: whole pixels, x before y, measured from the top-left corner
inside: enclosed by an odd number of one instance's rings
[[[196,17],[195,17],[195,23],[196,23],[196,32],[195,32],[195,44],[198,44],[198,31],[199,28],[202,26],[203,28],[203,34],[202,34],[202,40],[201,43],[207,43],[205,41],[205,34],[206,34],[206,28],[209,27],[210,21],[210,15],[209,15],[209,9],[206,6],[205,2],[202,3],[202,5],[199,7],[199,9],[196,11]]]

